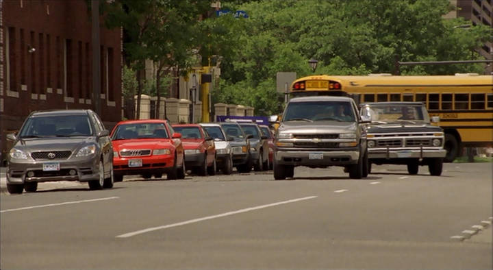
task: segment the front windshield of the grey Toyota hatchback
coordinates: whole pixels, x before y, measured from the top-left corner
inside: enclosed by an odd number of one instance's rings
[[[27,119],[21,138],[92,136],[87,115],[36,116]]]

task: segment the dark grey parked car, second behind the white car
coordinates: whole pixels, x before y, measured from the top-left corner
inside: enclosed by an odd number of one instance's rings
[[[265,171],[269,168],[267,136],[262,134],[256,123],[239,123],[245,134],[251,135],[250,154],[255,171]]]

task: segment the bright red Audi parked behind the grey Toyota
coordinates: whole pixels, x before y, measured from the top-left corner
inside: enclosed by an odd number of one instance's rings
[[[166,120],[121,121],[111,133],[114,158],[114,178],[121,182],[124,175],[142,175],[149,179],[185,178],[184,147],[181,134]]]

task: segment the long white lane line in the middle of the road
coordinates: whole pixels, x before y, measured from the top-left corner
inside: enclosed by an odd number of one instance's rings
[[[236,211],[225,212],[223,214],[216,214],[214,216],[201,217],[199,219],[190,219],[188,221],[183,221],[183,222],[179,222],[179,223],[173,223],[173,224],[162,225],[162,226],[153,227],[153,228],[147,228],[147,229],[138,230],[138,231],[135,231],[135,232],[128,232],[127,234],[120,234],[120,235],[118,235],[116,237],[117,238],[127,238],[127,237],[130,237],[130,236],[136,236],[137,234],[144,234],[146,232],[153,232],[155,230],[164,230],[164,229],[168,229],[168,228],[178,227],[178,226],[181,226],[181,225],[187,225],[187,224],[190,224],[190,223],[197,223],[197,222],[200,222],[200,221],[206,221],[206,220],[209,220],[209,219],[217,219],[219,217],[227,217],[227,216],[231,216],[232,214],[240,214],[240,213],[249,212],[249,211],[253,211],[253,210],[259,210],[259,209],[262,209],[262,208],[268,208],[268,207],[272,207],[272,206],[279,206],[281,204],[290,204],[290,203],[296,202],[296,201],[304,201],[306,199],[314,199],[316,197],[318,197],[318,196],[309,196],[309,197],[303,197],[303,198],[299,198],[299,199],[290,199],[288,201],[279,201],[279,202],[273,203],[273,204],[264,204],[262,206],[255,206],[255,207],[251,207],[251,208],[244,208],[244,209],[240,209],[240,210],[236,210]]]

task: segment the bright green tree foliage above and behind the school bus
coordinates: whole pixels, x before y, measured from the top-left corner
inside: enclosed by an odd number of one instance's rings
[[[455,27],[464,19],[444,19],[448,0],[222,1],[249,19],[229,23],[235,38],[223,64],[215,102],[253,106],[256,114],[281,110],[276,73],[366,75],[394,73],[395,61],[479,60],[475,49],[492,32],[484,25]],[[401,66],[403,75],[483,73],[481,64]]]

